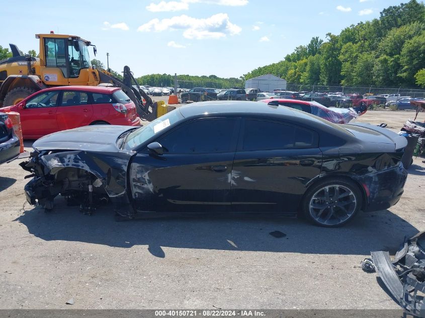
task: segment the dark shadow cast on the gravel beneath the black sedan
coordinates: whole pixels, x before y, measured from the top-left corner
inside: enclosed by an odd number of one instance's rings
[[[55,211],[35,207],[18,217],[30,234],[45,241],[76,241],[130,248],[147,245],[149,252],[165,257],[161,247],[294,252],[309,254],[369,255],[371,251],[394,253],[404,237],[418,231],[388,210],[359,214],[342,228],[321,228],[300,219],[246,216],[190,216],[116,222],[105,206],[93,216],[57,198]],[[270,235],[280,231],[286,237]]]

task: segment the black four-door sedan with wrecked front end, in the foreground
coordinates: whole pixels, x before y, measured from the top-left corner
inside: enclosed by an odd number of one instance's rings
[[[27,200],[53,209],[61,194],[92,213],[302,215],[334,227],[403,193],[404,137],[367,124],[335,125],[247,101],[184,105],[149,125],[90,126],[37,140]]]

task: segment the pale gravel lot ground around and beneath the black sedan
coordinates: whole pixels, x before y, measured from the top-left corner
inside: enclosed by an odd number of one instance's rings
[[[411,116],[361,121],[398,131]],[[338,229],[214,216],[115,222],[108,207],[88,217],[62,199],[47,215],[26,203],[16,160],[0,167],[0,308],[398,308],[359,264],[425,230],[422,160],[397,205]]]

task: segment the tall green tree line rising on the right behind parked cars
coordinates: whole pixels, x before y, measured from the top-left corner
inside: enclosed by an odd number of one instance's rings
[[[325,41],[313,37],[242,77],[264,74],[300,84],[425,87],[425,5],[410,0],[388,7],[379,19],[327,33]]]

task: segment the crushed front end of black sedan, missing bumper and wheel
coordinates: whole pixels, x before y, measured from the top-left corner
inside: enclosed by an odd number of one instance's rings
[[[34,150],[29,161],[20,163],[31,172],[25,185],[27,201],[52,211],[54,198],[65,197],[67,205],[77,205],[91,215],[101,204],[114,203],[115,212],[131,218],[133,208],[126,191],[128,158],[87,151]]]

